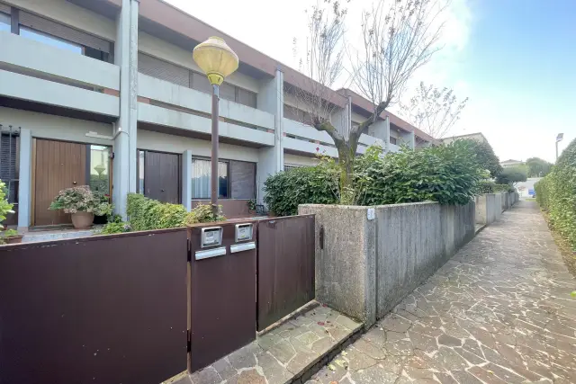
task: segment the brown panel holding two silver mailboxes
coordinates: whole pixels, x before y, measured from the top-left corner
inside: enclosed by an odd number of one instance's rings
[[[236,241],[238,223],[190,228],[191,352],[197,371],[256,339],[256,226]],[[201,246],[202,228],[222,228],[221,244]]]

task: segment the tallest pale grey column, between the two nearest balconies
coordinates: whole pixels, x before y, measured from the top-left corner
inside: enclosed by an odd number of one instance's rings
[[[122,0],[116,22],[115,64],[120,67],[120,118],[114,131],[112,202],[126,219],[126,195],[136,192],[138,126],[138,0]]]

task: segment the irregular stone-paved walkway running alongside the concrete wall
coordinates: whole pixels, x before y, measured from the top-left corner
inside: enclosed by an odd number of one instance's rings
[[[520,201],[308,383],[576,383],[574,289]]]

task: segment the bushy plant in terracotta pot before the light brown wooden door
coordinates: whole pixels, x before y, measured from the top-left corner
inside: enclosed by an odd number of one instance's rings
[[[92,192],[88,185],[80,185],[58,192],[49,210],[64,210],[65,213],[70,213],[74,228],[86,229],[92,226],[94,215],[111,214],[112,205],[103,202],[102,197]]]

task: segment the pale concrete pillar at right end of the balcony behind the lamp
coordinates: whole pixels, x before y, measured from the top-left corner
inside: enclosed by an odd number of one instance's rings
[[[276,69],[276,76],[260,85],[257,96],[259,110],[275,115],[275,146],[259,149],[257,163],[257,201],[264,202],[264,182],[271,174],[284,170],[284,73]]]

